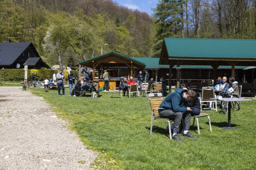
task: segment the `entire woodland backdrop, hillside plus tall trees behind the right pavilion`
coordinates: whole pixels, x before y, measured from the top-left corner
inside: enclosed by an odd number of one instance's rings
[[[0,0],[0,41],[33,42],[50,66],[62,58],[74,67],[101,46],[159,57],[164,37],[256,39],[256,0],[160,0],[153,10],[113,0]]]

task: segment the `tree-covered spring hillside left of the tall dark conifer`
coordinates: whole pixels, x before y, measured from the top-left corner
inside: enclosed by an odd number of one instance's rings
[[[153,53],[152,18],[112,0],[0,0],[0,41],[33,42],[50,66],[110,50],[132,57]],[[93,54],[94,53],[94,54]]]

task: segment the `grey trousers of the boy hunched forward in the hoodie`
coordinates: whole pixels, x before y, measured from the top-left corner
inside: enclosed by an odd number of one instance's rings
[[[184,119],[184,124],[185,124],[184,129],[190,128],[190,117],[191,117],[190,112],[176,112],[175,113],[172,110],[163,110],[163,111],[159,112],[159,115],[161,117],[174,119],[174,128],[173,128],[174,131],[177,131],[177,132],[179,131],[182,117]]]

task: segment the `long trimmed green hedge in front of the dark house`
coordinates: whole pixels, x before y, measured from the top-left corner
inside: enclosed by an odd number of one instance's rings
[[[53,72],[59,72],[59,70],[52,69],[32,69],[28,70],[28,80],[30,80],[32,76],[32,72],[35,72],[35,76],[39,78],[40,81],[43,81],[46,77],[51,78],[53,76]],[[78,77],[78,72],[76,70],[72,70],[73,74],[75,74],[76,78]],[[63,73],[64,74],[64,73]],[[0,69],[0,78],[5,78],[5,81],[23,81],[25,77],[24,69]],[[68,71],[66,70],[66,79],[68,78]]]

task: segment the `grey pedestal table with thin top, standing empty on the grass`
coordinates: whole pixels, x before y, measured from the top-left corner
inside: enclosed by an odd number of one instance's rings
[[[230,121],[231,121],[231,101],[251,101],[251,99],[247,99],[247,98],[222,98],[222,99],[217,99],[217,98],[210,98],[211,100],[218,100],[218,101],[225,101],[228,102],[228,118],[227,118],[227,122],[228,122],[228,126],[227,127],[221,127],[222,129],[237,129],[234,127],[231,127],[230,125]]]

